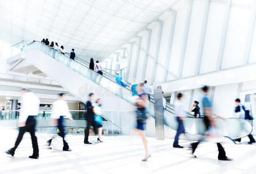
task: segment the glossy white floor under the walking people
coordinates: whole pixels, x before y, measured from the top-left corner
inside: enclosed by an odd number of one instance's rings
[[[0,129],[0,173],[256,173],[256,144],[223,144],[227,156],[234,161],[218,161],[218,150],[214,143],[202,143],[197,158],[192,158],[187,148],[172,148],[172,139],[148,138],[152,158],[142,162],[144,148],[136,136],[104,136],[97,143],[91,136],[91,145],[83,144],[83,136],[67,135],[72,152],[62,151],[62,140],[57,138],[53,149],[46,141],[50,135],[37,133],[40,148],[38,160],[28,158],[32,154],[29,133],[17,148],[15,156],[5,154],[15,143],[17,131]],[[189,146],[188,141],[180,144]]]

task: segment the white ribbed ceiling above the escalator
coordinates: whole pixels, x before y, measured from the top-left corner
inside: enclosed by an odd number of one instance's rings
[[[0,0],[0,39],[48,38],[102,60],[181,0]]]

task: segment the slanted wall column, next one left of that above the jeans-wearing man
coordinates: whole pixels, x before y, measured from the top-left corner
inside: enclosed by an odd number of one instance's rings
[[[168,78],[168,69],[170,64],[170,54],[172,53],[172,43],[173,43],[173,35],[175,31],[176,17],[177,17],[177,11],[173,10],[172,23],[170,24],[170,35],[169,35],[168,50],[167,50],[166,64],[165,64],[165,74],[163,77],[163,82],[166,82]]]

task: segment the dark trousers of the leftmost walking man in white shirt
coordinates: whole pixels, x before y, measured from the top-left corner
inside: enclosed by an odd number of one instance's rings
[[[29,116],[26,121],[26,126],[19,128],[19,135],[15,142],[15,146],[11,148],[10,151],[14,153],[16,148],[19,146],[20,142],[22,141],[22,137],[24,133],[29,132],[32,140],[33,156],[37,156],[39,154],[37,137],[35,136],[35,125],[36,125],[36,121],[34,116]]]

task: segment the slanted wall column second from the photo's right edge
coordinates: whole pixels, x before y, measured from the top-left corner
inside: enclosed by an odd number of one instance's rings
[[[226,14],[224,16],[223,29],[222,29],[222,35],[221,35],[221,43],[219,44],[219,54],[218,54],[216,70],[221,70],[221,68],[222,68],[222,60],[223,60],[226,38],[227,38],[227,28],[229,26],[230,9],[231,9],[231,0],[228,0],[226,2]]]

